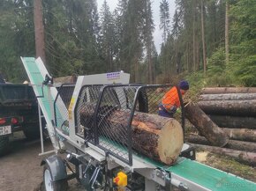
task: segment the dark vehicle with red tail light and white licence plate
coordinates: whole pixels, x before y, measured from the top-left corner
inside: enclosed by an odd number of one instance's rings
[[[29,84],[0,83],[0,155],[9,150],[9,138],[23,131],[26,138],[39,138],[37,99]]]

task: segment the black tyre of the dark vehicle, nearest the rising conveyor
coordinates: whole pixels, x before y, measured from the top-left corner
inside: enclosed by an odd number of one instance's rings
[[[40,127],[38,123],[26,123],[23,126],[23,133],[28,140],[35,140],[40,137]]]

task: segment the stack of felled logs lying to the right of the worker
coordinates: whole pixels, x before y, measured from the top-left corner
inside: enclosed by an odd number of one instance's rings
[[[213,139],[211,136],[216,135],[207,135],[207,128],[202,127],[204,129],[200,131],[200,136],[186,137],[188,142],[195,143],[195,147],[228,155],[239,162],[256,165],[256,88],[205,88],[196,106],[207,114],[207,120],[204,121],[213,121],[214,128],[210,129],[224,132],[226,136],[218,132],[215,139],[220,143],[216,143],[210,140]],[[186,115],[195,115],[195,111],[188,108],[186,110],[191,112]],[[189,119],[189,116],[187,118]],[[198,126],[195,122],[192,123]],[[204,122],[202,126],[207,123]]]

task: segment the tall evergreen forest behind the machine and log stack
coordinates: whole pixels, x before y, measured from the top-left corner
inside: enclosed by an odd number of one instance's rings
[[[0,72],[25,79],[20,56],[35,56],[34,2],[0,1]],[[256,85],[256,1],[160,0],[160,26],[151,0],[40,0],[45,62],[54,77],[124,70],[132,83],[188,78],[215,85]],[[154,46],[161,30],[161,51]]]

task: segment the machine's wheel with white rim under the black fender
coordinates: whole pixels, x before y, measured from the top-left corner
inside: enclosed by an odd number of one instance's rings
[[[66,191],[68,189],[68,182],[65,179],[53,181],[49,165],[44,165],[43,187],[45,191]]]

